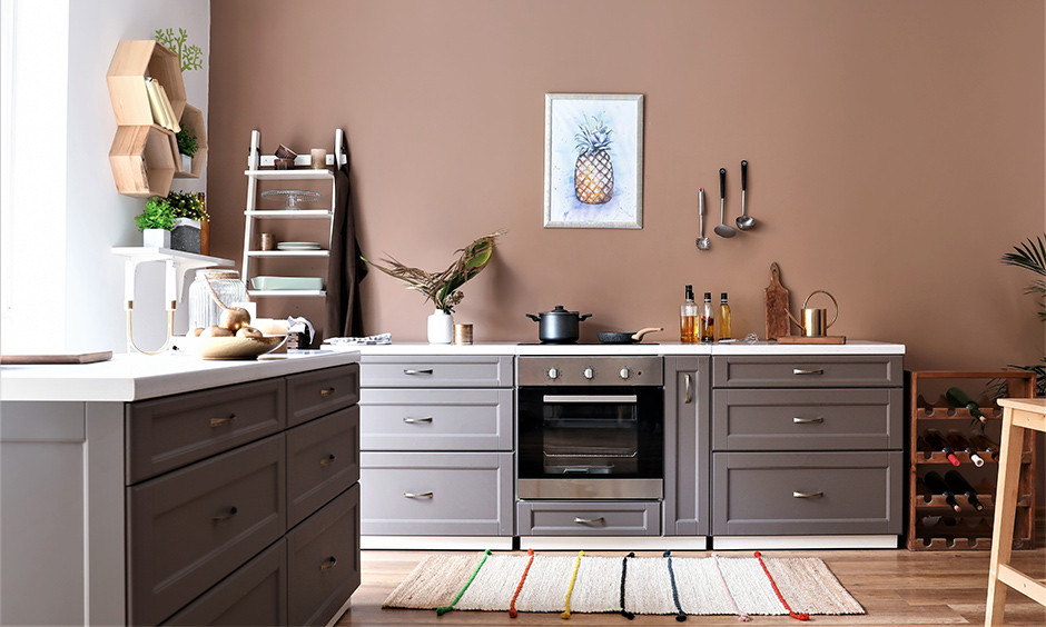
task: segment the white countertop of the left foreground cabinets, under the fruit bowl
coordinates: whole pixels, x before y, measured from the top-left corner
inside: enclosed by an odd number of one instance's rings
[[[132,401],[358,361],[355,351],[308,350],[243,361],[136,354],[97,364],[6,365],[0,366],[0,400]]]

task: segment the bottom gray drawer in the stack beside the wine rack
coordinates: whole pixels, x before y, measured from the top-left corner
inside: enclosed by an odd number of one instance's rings
[[[902,470],[900,451],[713,454],[712,535],[900,534]]]

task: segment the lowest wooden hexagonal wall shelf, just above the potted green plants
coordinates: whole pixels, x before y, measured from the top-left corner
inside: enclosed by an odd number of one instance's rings
[[[177,153],[175,133],[162,127],[119,127],[109,148],[117,191],[136,198],[167,196]]]

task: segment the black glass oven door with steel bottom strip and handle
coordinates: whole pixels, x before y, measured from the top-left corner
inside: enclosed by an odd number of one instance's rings
[[[660,387],[521,387],[520,498],[661,498]]]

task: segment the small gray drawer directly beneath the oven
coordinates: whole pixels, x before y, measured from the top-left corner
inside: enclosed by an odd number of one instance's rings
[[[658,501],[520,501],[521,536],[660,536]]]

